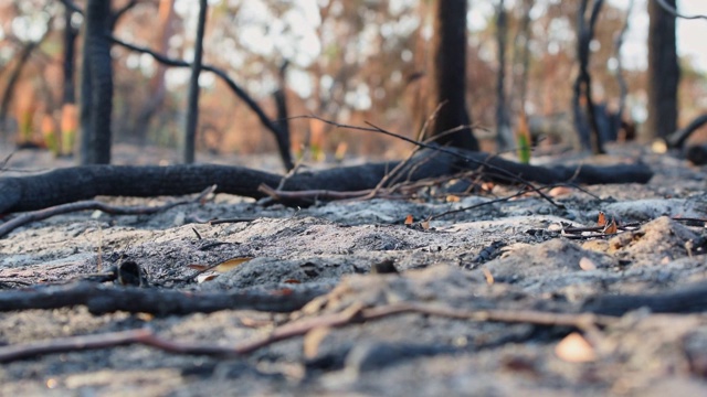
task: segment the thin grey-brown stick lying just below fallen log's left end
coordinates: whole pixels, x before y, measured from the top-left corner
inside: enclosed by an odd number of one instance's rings
[[[106,204],[96,200],[87,200],[87,201],[81,201],[76,203],[61,204],[61,205],[56,205],[56,206],[44,208],[44,210],[24,213],[13,219],[10,219],[1,224],[0,237],[3,237],[10,232],[14,230],[15,228],[30,224],[32,222],[43,221],[55,215],[67,214],[67,213],[77,212],[77,211],[98,210],[98,211],[103,211],[104,213],[113,214],[113,215],[155,214],[158,212],[167,211],[177,205],[201,202],[207,195],[213,193],[215,189],[217,186],[212,185],[207,187],[203,192],[199,193],[199,195],[193,198],[179,200],[179,201],[175,201],[175,202],[167,203],[165,205],[159,205],[159,206],[118,206],[118,205]]]

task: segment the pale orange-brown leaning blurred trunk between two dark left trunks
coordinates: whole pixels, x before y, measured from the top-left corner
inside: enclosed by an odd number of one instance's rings
[[[156,52],[159,54],[167,54],[169,50],[169,39],[173,34],[172,21],[175,19],[175,0],[162,0],[159,2],[159,42],[157,43]],[[133,128],[133,135],[140,142],[145,141],[147,132],[150,127],[152,117],[159,111],[165,96],[167,95],[167,88],[165,87],[165,73],[167,72],[167,65],[162,63],[157,64],[157,72],[150,79],[149,99],[143,104],[140,112],[135,121],[135,128]]]

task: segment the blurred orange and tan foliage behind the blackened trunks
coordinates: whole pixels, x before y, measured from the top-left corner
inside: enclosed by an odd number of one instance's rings
[[[113,0],[114,9],[128,0]],[[191,2],[173,0],[140,1],[122,17],[115,35],[138,45],[148,45],[173,58],[188,60],[193,46]],[[194,4],[197,2],[193,2]],[[249,14],[254,3],[267,15]],[[430,117],[428,87],[431,78],[431,7],[429,1],[393,3],[379,1],[331,0],[315,2],[318,14],[306,14],[304,2],[274,0],[212,2],[205,36],[204,62],[225,71],[265,110],[275,118],[272,98],[277,88],[277,71],[284,58],[291,61],[287,87],[289,116],[317,115],[342,124],[365,126],[373,122],[390,131],[416,138]],[[511,110],[517,120],[520,110],[528,116],[570,111],[571,81],[574,76],[573,26],[578,2],[537,0],[530,31],[528,95],[525,104],[515,103],[520,72],[521,44],[513,40],[524,17],[520,2],[508,11],[509,47],[506,65]],[[67,154],[75,146],[78,115],[75,105],[62,104],[63,23],[61,2],[50,6],[28,1],[22,8],[0,6],[0,23],[11,26],[14,18],[49,12],[54,15],[52,32],[35,50],[12,97],[11,115],[18,128],[6,139],[45,141]],[[77,4],[84,6],[78,1]],[[472,9],[483,4],[472,3]],[[44,10],[44,11],[43,11]],[[492,10],[493,12],[493,10]],[[23,14],[24,13],[24,14]],[[295,17],[293,17],[295,15]],[[485,133],[482,146],[493,150],[497,64],[493,13],[485,25],[472,26],[468,40],[467,98],[473,122]],[[619,88],[615,72],[608,66],[613,56],[614,34],[625,18],[624,10],[604,6],[597,25],[597,43],[590,69],[597,101],[612,101]],[[309,21],[310,29],[298,30]],[[559,22],[561,23],[559,23]],[[562,26],[567,31],[558,31]],[[0,41],[0,54],[10,65],[19,53],[11,30]],[[544,32],[544,33],[542,33]],[[268,36],[270,35],[270,36]],[[272,42],[260,43],[258,37]],[[307,55],[304,39],[318,42],[318,53]],[[314,37],[314,39],[313,39]],[[308,39],[308,40],[309,40]],[[263,41],[262,43],[266,43]],[[76,75],[81,71],[81,37],[77,40]],[[114,56],[114,137],[117,142],[176,147],[184,117],[188,68],[159,66],[150,56],[131,53],[117,45]],[[680,90],[683,115],[688,118],[704,111],[707,88],[703,74],[688,68]],[[0,89],[7,86],[9,67],[0,73]],[[163,76],[162,76],[163,75]],[[629,87],[629,116],[645,101],[645,72],[624,73]],[[163,77],[163,78],[162,78]],[[451,76],[450,78],[453,78]],[[78,85],[78,84],[77,84]],[[220,153],[261,153],[275,149],[272,133],[257,117],[218,77],[204,73],[200,100],[198,150]],[[160,97],[158,109],[146,125],[143,110]],[[53,120],[53,121],[52,121]],[[683,120],[685,121],[685,120]],[[60,130],[50,133],[51,125]],[[411,146],[399,140],[361,131],[344,131],[308,119],[291,120],[295,153],[308,148],[313,159],[348,154],[399,158]],[[42,136],[44,132],[44,136]],[[479,130],[479,137],[481,133]],[[50,140],[55,142],[49,143]],[[342,143],[346,143],[342,146]],[[489,146],[490,143],[490,146]],[[345,148],[345,149],[341,149]],[[335,152],[339,151],[338,155]]]

